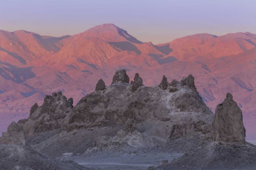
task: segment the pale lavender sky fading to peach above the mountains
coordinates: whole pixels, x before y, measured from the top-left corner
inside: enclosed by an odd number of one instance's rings
[[[112,23],[143,42],[256,33],[255,0],[0,0],[0,30],[63,36]]]

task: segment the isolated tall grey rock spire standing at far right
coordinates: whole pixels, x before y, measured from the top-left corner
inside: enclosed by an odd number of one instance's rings
[[[227,94],[226,99],[218,104],[213,119],[214,141],[225,143],[245,143],[246,129],[243,124],[243,114],[232,94]]]

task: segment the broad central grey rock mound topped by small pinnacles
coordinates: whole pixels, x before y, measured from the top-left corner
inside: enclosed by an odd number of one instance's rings
[[[122,80],[122,78],[116,78],[120,73],[121,71],[116,72],[114,82]],[[139,122],[156,118],[168,123],[170,120],[174,121],[172,117],[169,117],[170,112],[191,113],[187,115],[187,119],[195,117],[195,120],[200,120],[198,117],[207,117],[210,124],[212,123],[212,112],[198,92],[190,88],[194,84],[190,83],[190,86],[187,86],[179,81],[172,81],[172,86],[171,84],[168,86],[171,94],[168,90],[162,90],[157,86],[137,90],[140,86],[143,86],[143,80],[137,73],[132,87],[127,82],[113,83],[102,93],[88,94],[73,108],[67,128],[71,131],[94,126],[112,126],[124,124],[128,119]],[[184,123],[187,121],[184,120]]]

